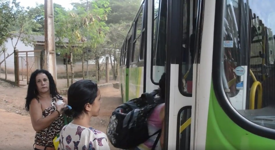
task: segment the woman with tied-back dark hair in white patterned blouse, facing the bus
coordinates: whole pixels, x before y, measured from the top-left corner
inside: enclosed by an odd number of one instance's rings
[[[68,89],[68,105],[65,114],[74,120],[60,132],[58,149],[109,150],[106,134],[90,126],[91,117],[99,115],[100,90],[91,80],[80,80]]]

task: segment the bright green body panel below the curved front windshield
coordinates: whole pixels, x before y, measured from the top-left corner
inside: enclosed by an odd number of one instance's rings
[[[210,102],[207,121],[205,149],[272,149],[272,139],[252,134],[234,123],[218,103],[213,85],[210,90]]]

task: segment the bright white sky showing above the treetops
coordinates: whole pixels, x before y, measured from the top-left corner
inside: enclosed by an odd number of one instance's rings
[[[66,0],[66,1],[52,0],[52,1],[53,3],[59,4],[66,9],[72,9],[72,5],[70,3],[79,2],[80,0]],[[17,2],[20,2],[21,6],[24,6],[26,8],[27,6],[35,7],[36,2],[38,4],[44,4],[45,1],[44,0],[17,0]]]

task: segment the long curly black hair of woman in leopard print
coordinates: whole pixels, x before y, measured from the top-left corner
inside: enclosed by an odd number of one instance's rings
[[[38,100],[38,90],[37,90],[37,86],[36,86],[36,76],[38,74],[45,74],[48,77],[49,86],[50,86],[49,89],[50,89],[50,94],[52,95],[52,97],[57,97],[59,95],[59,93],[57,92],[57,89],[56,89],[56,85],[54,83],[54,78],[49,73],[49,71],[44,70],[44,69],[37,69],[36,71],[34,71],[31,74],[31,77],[30,77],[27,96],[25,98],[26,99],[26,104],[25,104],[26,111],[29,111],[29,109],[30,109],[31,100],[33,100],[34,98],[36,98]]]

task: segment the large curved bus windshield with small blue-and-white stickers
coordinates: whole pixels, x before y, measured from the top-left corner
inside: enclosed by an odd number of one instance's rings
[[[226,0],[222,53],[214,58],[223,62],[221,81],[230,104],[251,122],[273,129],[274,7],[274,0]]]

